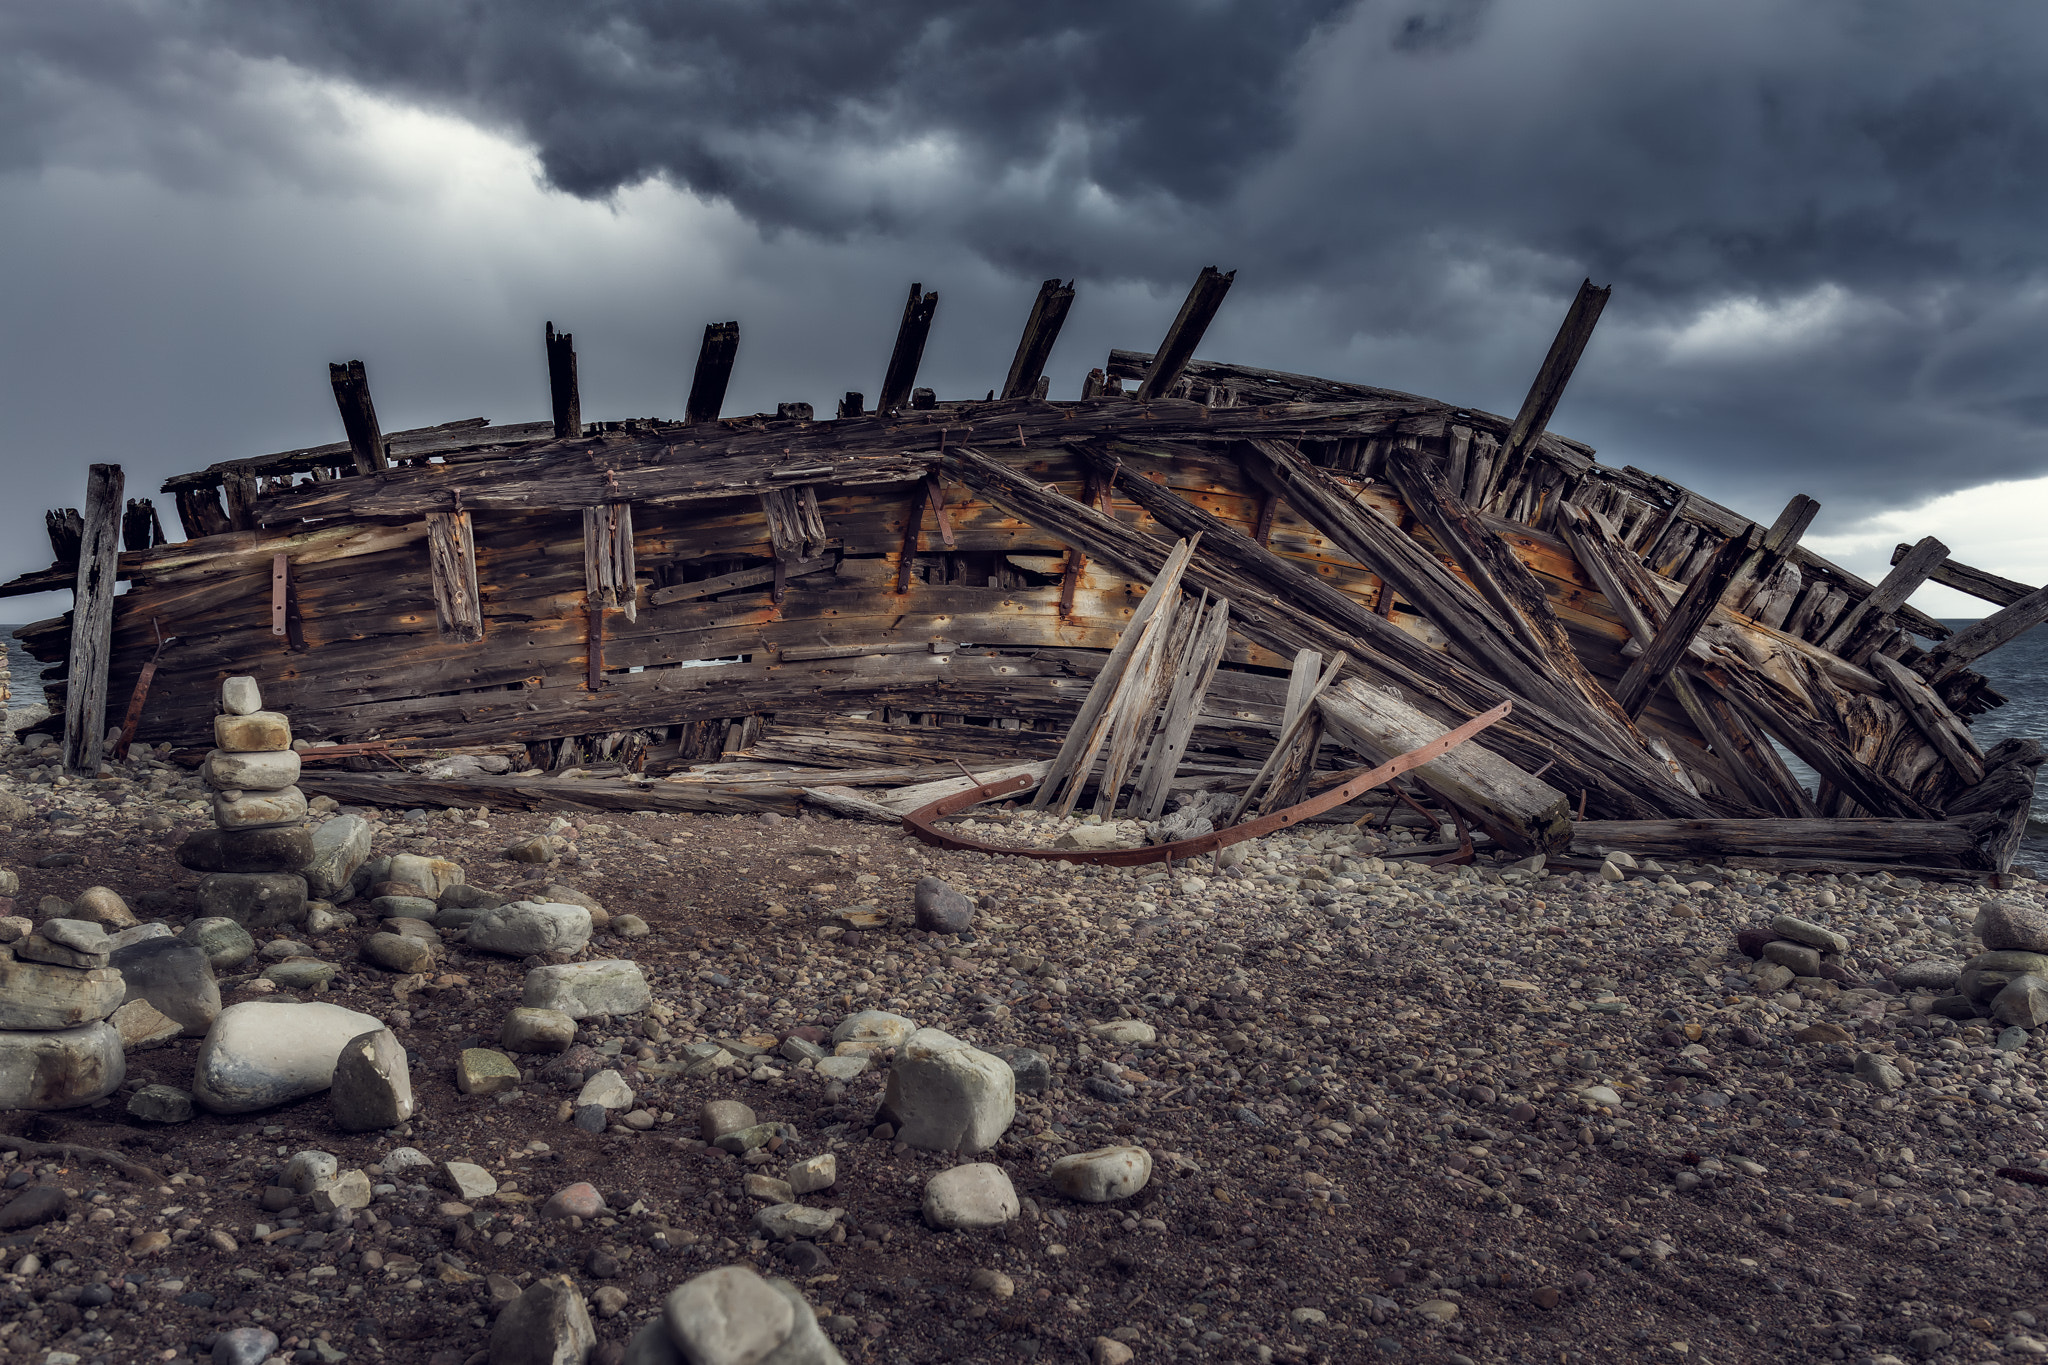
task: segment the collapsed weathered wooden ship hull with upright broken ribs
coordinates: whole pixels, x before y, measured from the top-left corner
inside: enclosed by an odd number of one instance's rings
[[[1157,354],[1112,352],[1061,403],[1040,381],[1057,282],[983,401],[913,389],[936,305],[913,287],[881,401],[834,420],[719,420],[733,323],[707,327],[682,422],[584,424],[553,327],[551,422],[383,434],[362,366],[334,366],[346,442],[170,479],[180,542],[94,467],[86,512],[51,514],[57,563],[0,596],[78,593],[18,630],[78,769],[123,702],[131,739],[203,749],[219,679],[254,673],[299,735],[354,747],[307,767],[344,798],[788,810],[823,790],[872,812],[893,808],[874,788],[954,761],[1053,763],[1186,540],[1180,589],[1229,602],[1221,659],[1178,747],[1171,716],[1141,722],[1155,772],[1098,774],[1104,812],[1141,776],[1145,814],[1241,788],[1307,661],[1341,657],[1268,808],[1511,700],[1483,759],[1417,776],[1516,855],[2009,866],[2042,751],[1972,741],[2003,698],[1968,665],[2048,616],[2044,591],[1931,538],[1868,583],[1800,544],[1812,499],[1761,526],[1546,432],[1606,291],[1581,291],[1507,420],[1192,360],[1229,278],[1204,272]],[[1905,606],[1927,579],[2001,610],[1952,632]],[[1190,622],[1159,643],[1161,704]],[[391,772],[463,747],[631,780]]]

